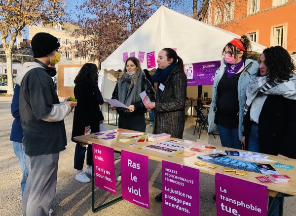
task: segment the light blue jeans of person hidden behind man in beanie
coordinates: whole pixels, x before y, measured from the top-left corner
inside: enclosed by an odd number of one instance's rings
[[[13,147],[14,154],[17,156],[19,160],[21,171],[23,173],[23,178],[21,180],[21,190],[22,190],[22,196],[23,196],[25,185],[29,175],[28,155],[25,154],[25,147],[23,146],[22,143],[12,142],[12,147]]]

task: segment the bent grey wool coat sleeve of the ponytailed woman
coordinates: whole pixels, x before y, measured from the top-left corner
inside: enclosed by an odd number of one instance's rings
[[[172,78],[173,97],[170,102],[155,103],[156,112],[172,112],[185,108],[187,81],[182,73]]]

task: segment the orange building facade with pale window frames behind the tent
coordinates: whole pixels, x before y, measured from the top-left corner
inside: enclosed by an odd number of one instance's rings
[[[296,56],[296,0],[204,0],[201,21]]]

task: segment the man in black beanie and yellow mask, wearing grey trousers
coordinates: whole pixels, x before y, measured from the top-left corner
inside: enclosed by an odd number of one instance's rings
[[[37,33],[31,42],[34,61],[26,62],[16,78],[20,85],[22,144],[29,156],[30,172],[24,189],[24,216],[48,216],[56,193],[59,154],[67,145],[64,118],[77,102],[60,103],[51,77],[61,54],[58,39]]]

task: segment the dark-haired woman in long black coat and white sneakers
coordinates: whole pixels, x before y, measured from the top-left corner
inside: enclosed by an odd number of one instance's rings
[[[100,123],[103,123],[104,116],[100,105],[104,99],[98,87],[98,67],[93,63],[85,63],[74,79],[74,96],[77,99],[77,106],[74,110],[73,129],[71,140],[76,143],[74,153],[74,169],[76,169],[75,180],[88,183],[90,179],[83,172],[83,163],[86,153],[86,173],[92,175],[92,145],[87,148],[74,140],[75,136],[100,132]]]

